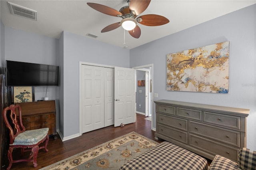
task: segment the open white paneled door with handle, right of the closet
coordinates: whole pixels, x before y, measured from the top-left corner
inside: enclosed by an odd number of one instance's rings
[[[135,70],[115,67],[114,127],[135,122]]]

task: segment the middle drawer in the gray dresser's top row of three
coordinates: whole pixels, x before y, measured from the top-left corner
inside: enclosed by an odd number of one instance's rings
[[[202,111],[177,107],[177,116],[202,121]]]

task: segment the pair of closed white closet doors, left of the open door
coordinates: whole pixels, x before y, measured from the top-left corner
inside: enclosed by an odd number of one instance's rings
[[[82,65],[82,133],[114,124],[114,69]]]

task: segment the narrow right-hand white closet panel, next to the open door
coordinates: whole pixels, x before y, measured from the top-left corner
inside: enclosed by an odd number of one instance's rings
[[[114,69],[105,68],[105,127],[114,125]]]

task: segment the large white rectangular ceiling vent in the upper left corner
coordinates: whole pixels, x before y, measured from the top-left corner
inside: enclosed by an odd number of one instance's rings
[[[8,2],[11,13],[31,20],[37,20],[37,11]]]

